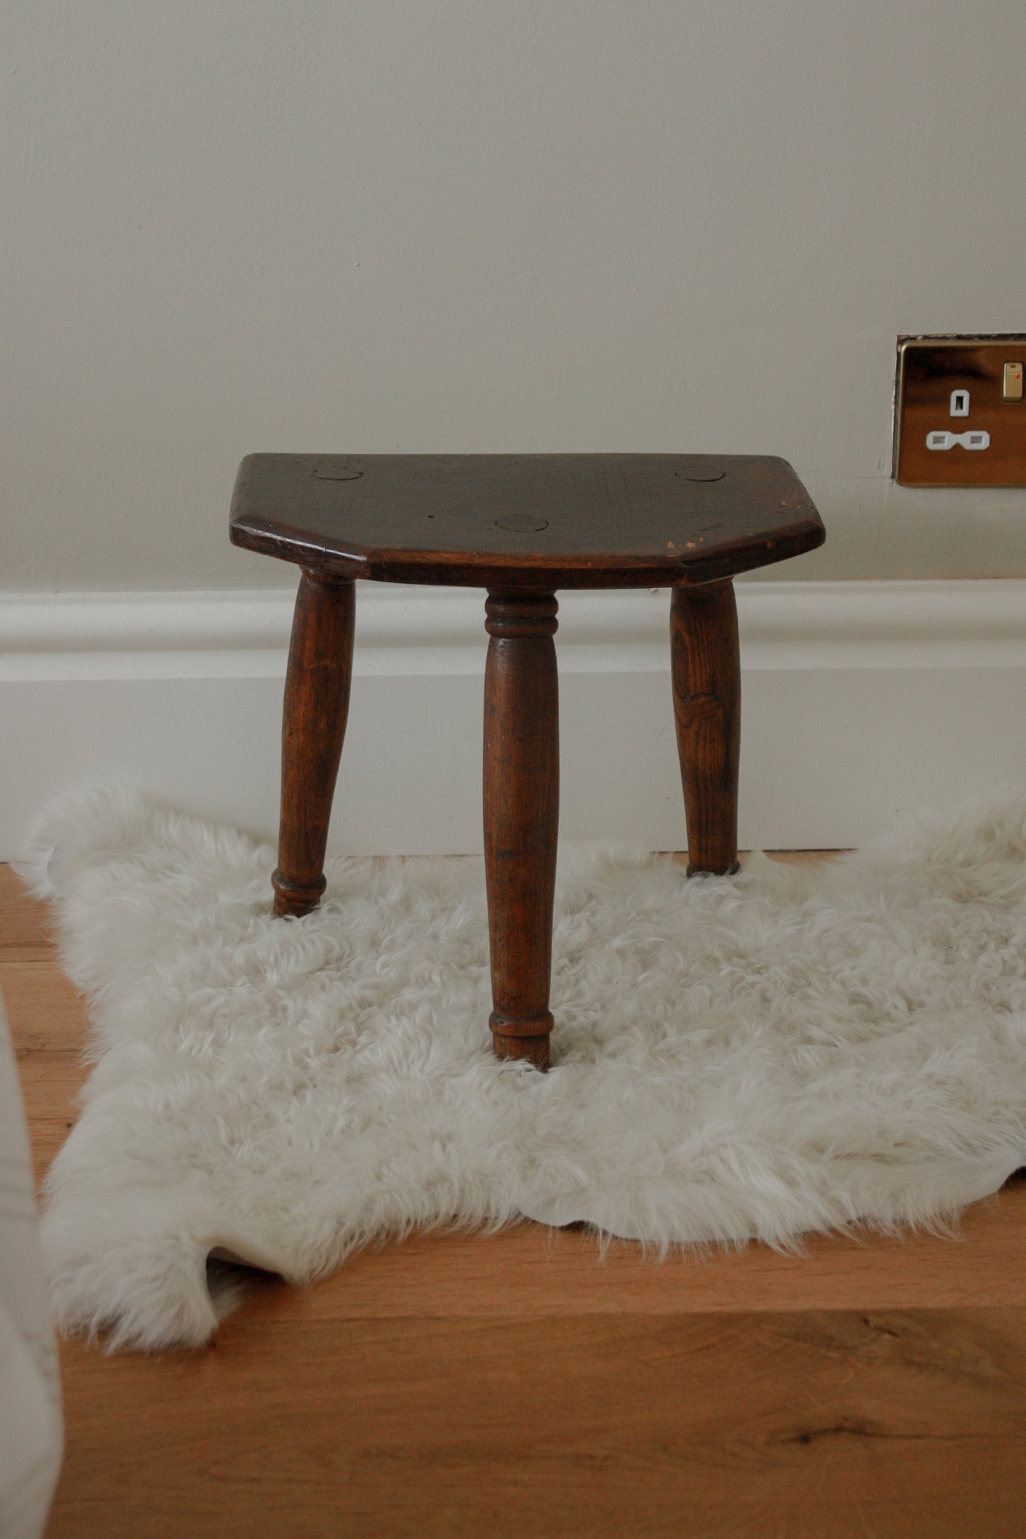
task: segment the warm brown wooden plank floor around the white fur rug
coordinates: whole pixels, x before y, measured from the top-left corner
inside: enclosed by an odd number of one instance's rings
[[[42,1174],[82,1000],[0,868],[0,988]],[[1026,1180],[958,1239],[600,1259],[523,1225],[258,1280],[205,1351],[62,1348],[48,1534],[1026,1536]]]

